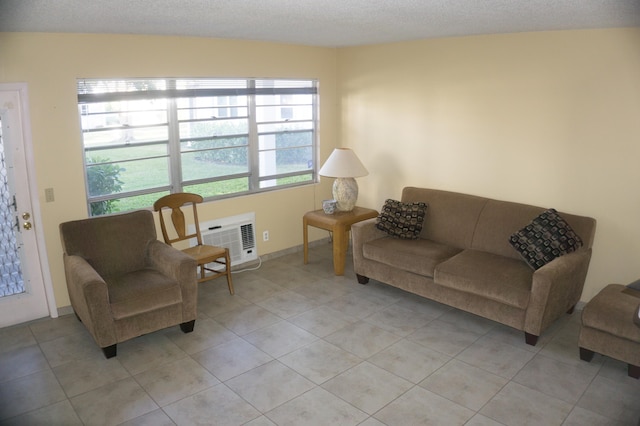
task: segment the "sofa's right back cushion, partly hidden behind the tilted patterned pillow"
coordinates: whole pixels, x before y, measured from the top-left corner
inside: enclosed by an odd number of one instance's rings
[[[488,200],[478,218],[471,248],[521,259],[520,253],[509,243],[509,237],[545,210],[527,204]],[[595,233],[595,220],[568,213],[559,214],[583,240],[583,247],[590,248]]]

